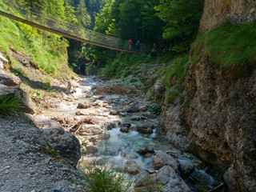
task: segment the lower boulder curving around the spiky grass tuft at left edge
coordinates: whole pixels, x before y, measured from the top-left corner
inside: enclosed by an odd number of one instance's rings
[[[6,95],[14,95],[18,98],[22,99],[22,102],[25,106],[24,112],[29,114],[34,114],[36,105],[30,98],[30,95],[27,94],[24,90],[16,87],[16,86],[2,86],[0,85],[0,100],[4,98]]]

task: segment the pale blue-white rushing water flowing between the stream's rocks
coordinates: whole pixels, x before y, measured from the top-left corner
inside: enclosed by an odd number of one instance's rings
[[[75,91],[74,96],[78,98],[77,101],[74,102],[65,102],[59,103],[58,107],[54,109],[47,110],[46,116],[65,116],[68,118],[76,117],[75,111],[77,111],[78,102],[94,102],[97,96],[92,94],[92,88],[97,85],[92,79],[85,79],[85,82],[82,83]],[[87,90],[86,93],[84,90]],[[105,98],[112,98],[122,100],[123,96],[120,95],[108,95]],[[120,106],[122,103],[116,106]],[[174,154],[181,154],[180,151],[171,146],[170,143],[166,142],[161,135],[156,134],[156,130],[154,129],[153,134],[141,134],[136,130],[132,130],[129,133],[122,133],[120,131],[120,126],[118,126],[118,122],[130,122],[132,125],[138,125],[139,123],[145,124],[148,123],[153,126],[158,126],[158,121],[156,119],[143,119],[140,121],[131,121],[130,115],[127,115],[124,118],[115,115],[110,118],[108,116],[109,110],[101,107],[90,107],[90,109],[83,110],[86,114],[90,113],[101,113],[102,116],[105,115],[104,122],[115,122],[117,127],[112,130],[106,130],[107,134],[110,134],[110,138],[103,139],[102,142],[97,142],[98,152],[94,154],[86,153],[83,154],[82,159],[86,160],[86,162],[91,163],[95,162],[96,164],[104,165],[110,169],[117,171],[119,173],[125,173],[126,162],[133,160],[138,163],[141,168],[140,174],[137,175],[129,175],[127,176],[133,180],[138,181],[139,178],[145,177],[146,170],[154,170],[153,168],[153,155],[150,157],[144,157],[137,153],[141,146],[150,146],[153,147],[155,151],[162,150],[167,151],[171,150]],[[106,124],[102,123],[102,126],[106,126]],[[183,157],[183,156],[179,156]]]

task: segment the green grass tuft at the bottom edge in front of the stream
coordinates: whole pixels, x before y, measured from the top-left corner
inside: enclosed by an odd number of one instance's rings
[[[82,175],[82,183],[90,192],[127,192],[131,191],[131,182],[127,182],[122,174],[113,171],[99,169],[97,167],[86,167],[85,174]]]

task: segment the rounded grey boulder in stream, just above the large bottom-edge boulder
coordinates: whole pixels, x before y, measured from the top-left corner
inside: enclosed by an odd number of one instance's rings
[[[153,166],[156,170],[161,169],[163,166],[171,166],[178,173],[178,163],[170,154],[166,154],[162,150],[158,150],[158,153],[154,156]]]

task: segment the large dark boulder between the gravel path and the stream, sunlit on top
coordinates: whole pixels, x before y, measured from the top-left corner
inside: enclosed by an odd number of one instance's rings
[[[80,158],[80,143],[74,134],[65,131],[58,122],[42,119],[35,123],[41,129],[46,141],[58,151],[62,158],[66,158],[73,166],[78,164]]]

